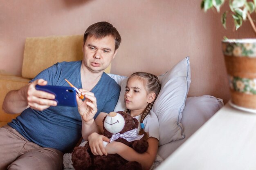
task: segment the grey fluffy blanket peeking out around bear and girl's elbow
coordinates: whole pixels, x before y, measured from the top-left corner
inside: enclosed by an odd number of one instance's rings
[[[87,143],[87,141],[83,141],[79,146],[85,146],[86,143]],[[74,170],[74,167],[73,167],[72,161],[71,161],[71,156],[72,156],[72,153],[65,153],[63,155],[64,170]],[[164,159],[162,159],[160,157],[160,155],[157,155],[157,157],[155,158],[155,161],[154,161],[153,165],[151,166],[150,170],[153,170],[153,169],[157,168],[157,166],[159,166],[162,161],[164,161]]]

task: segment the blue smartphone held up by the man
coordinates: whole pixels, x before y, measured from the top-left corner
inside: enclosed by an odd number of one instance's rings
[[[55,101],[58,106],[76,107],[76,91],[73,87],[65,86],[40,86],[36,85],[36,90],[45,91],[55,95]]]

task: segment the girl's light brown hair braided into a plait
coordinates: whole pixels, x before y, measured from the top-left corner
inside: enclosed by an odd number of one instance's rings
[[[138,77],[142,81],[144,81],[144,85],[147,91],[147,94],[149,93],[155,93],[155,99],[157,98],[160,89],[161,89],[161,83],[159,82],[159,79],[157,78],[156,75],[150,74],[150,73],[145,73],[145,72],[136,72],[130,75],[130,77],[127,80],[127,83],[132,77]],[[150,112],[151,108],[153,107],[153,104],[155,102],[155,99],[153,102],[149,103],[148,106],[146,106],[145,110],[142,112],[141,118],[140,118],[140,123],[143,123],[144,118],[148,113]],[[126,113],[130,113],[130,110],[126,109]],[[147,138],[148,135],[144,131],[144,128],[141,128],[139,131],[139,135],[145,134],[144,137]]]

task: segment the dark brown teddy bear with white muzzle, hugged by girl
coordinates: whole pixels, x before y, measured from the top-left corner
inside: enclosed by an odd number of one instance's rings
[[[137,134],[138,124],[136,118],[123,111],[111,112],[103,119],[101,135],[110,138],[110,142],[122,142],[135,151],[144,153],[148,150],[148,142],[143,135]],[[88,143],[84,147],[74,148],[72,163],[76,170],[142,170],[139,162],[126,161],[118,154],[95,156]]]

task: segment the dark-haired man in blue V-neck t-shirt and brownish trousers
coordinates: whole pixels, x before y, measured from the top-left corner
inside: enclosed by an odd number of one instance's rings
[[[22,113],[0,128],[0,170],[61,169],[63,152],[72,150],[81,130],[87,139],[98,132],[95,122],[103,119],[103,112],[114,110],[120,87],[104,70],[115,57],[121,36],[110,23],[97,22],[85,31],[83,41],[82,61],[56,63],[6,95],[3,110]],[[76,97],[78,108],[56,106],[54,95],[35,89],[36,84],[69,86],[65,79],[85,96],[83,101]],[[90,103],[96,109],[88,112]]]

